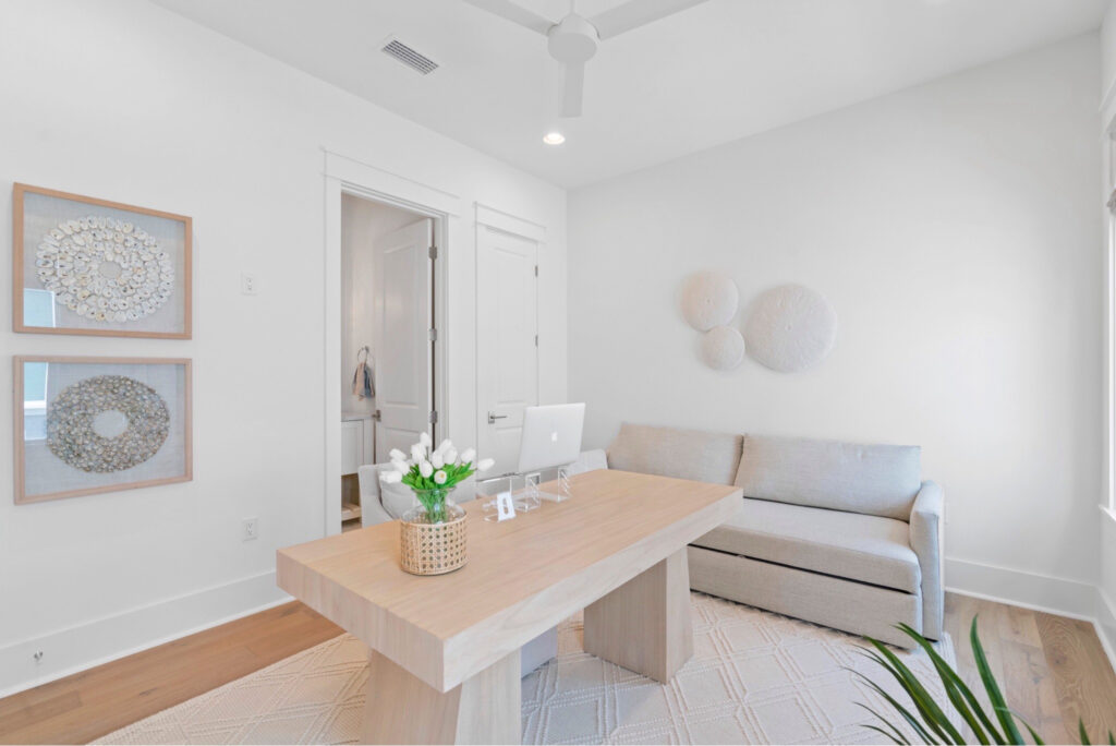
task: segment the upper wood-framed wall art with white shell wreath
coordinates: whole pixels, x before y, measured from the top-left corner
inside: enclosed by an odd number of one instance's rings
[[[16,184],[12,231],[16,332],[190,338],[190,218]]]

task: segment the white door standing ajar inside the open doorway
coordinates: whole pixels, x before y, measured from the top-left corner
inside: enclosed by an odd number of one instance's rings
[[[424,218],[376,241],[376,463],[393,448],[407,452],[433,410],[430,258],[433,221]]]

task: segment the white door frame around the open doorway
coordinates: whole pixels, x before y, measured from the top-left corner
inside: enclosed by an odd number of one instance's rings
[[[449,254],[451,237],[460,237],[464,205],[451,192],[362,163],[323,149],[325,181],[325,354],[324,433],[325,494],[323,535],[341,530],[341,194],[352,194],[389,207],[403,208],[434,221],[437,259],[434,261],[434,407],[439,413],[435,432],[446,430],[451,402],[448,400]]]

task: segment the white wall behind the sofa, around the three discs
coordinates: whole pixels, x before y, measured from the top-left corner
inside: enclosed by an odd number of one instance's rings
[[[1089,35],[571,192],[587,446],[622,420],[917,443],[946,494],[949,584],[1091,609],[1099,65]],[[833,355],[704,367],[676,304],[700,269],[742,306],[820,290]]]

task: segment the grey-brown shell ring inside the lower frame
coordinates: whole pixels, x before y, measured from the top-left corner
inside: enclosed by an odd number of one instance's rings
[[[119,432],[104,434],[98,418],[123,414]],[[171,430],[166,402],[154,389],[125,375],[97,375],[67,386],[47,412],[47,447],[81,471],[110,474],[158,452]]]

